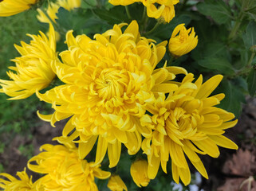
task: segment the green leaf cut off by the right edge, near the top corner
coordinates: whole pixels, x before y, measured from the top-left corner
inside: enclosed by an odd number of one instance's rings
[[[242,40],[246,45],[247,49],[250,49],[251,46],[256,45],[256,23],[250,21],[249,25],[246,28],[246,33],[242,34]]]

